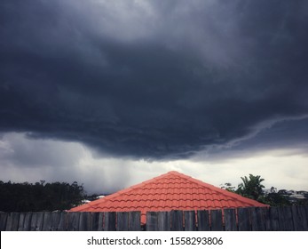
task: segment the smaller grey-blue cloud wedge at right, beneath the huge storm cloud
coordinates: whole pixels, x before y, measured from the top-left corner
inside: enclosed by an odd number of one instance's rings
[[[232,158],[252,158],[266,153],[276,155],[304,155],[308,152],[308,116],[288,118],[264,124],[256,133],[247,137],[216,145],[207,151],[196,153],[194,161],[221,164]]]

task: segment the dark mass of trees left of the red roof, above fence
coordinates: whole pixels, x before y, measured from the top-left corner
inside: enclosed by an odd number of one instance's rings
[[[83,186],[76,181],[35,184],[0,181],[0,211],[40,212],[67,210],[82,204],[85,197]]]

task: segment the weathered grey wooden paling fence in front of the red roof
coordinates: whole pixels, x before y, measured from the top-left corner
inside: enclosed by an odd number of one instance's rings
[[[2,231],[307,231],[308,205],[127,213],[0,213]]]

